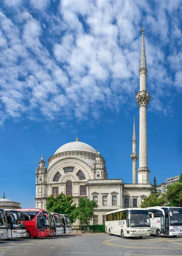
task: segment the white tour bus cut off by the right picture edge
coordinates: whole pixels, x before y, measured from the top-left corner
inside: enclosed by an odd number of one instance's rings
[[[148,207],[151,235],[182,235],[182,207]]]

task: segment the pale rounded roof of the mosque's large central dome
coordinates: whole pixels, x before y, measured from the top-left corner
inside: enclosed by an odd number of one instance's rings
[[[66,143],[63,146],[61,146],[60,148],[58,148],[54,154],[68,152],[68,151],[84,151],[84,152],[89,152],[92,154],[97,154],[97,150],[92,148],[90,145],[80,142],[80,141]]]

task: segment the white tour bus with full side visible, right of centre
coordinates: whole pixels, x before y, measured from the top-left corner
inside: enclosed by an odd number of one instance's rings
[[[105,215],[105,231],[122,238],[150,236],[148,210],[142,208],[118,209]]]

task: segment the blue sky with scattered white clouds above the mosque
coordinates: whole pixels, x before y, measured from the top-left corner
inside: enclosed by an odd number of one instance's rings
[[[0,1],[1,195],[34,207],[41,154],[76,134],[100,148],[109,178],[132,182],[142,24],[150,180],[182,172],[180,13],[181,0]]]

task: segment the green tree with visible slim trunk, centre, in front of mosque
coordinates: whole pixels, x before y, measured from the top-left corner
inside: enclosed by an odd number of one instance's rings
[[[75,217],[80,219],[82,224],[86,224],[90,233],[90,221],[94,218],[94,211],[97,209],[97,202],[88,198],[79,198],[77,209],[75,209]]]

